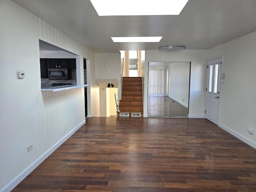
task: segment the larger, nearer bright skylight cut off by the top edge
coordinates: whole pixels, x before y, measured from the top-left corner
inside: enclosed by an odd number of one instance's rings
[[[178,15],[188,0],[90,0],[99,16]]]

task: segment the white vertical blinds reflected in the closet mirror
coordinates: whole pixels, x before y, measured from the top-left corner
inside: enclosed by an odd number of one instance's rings
[[[148,69],[148,94],[166,95],[167,69]]]

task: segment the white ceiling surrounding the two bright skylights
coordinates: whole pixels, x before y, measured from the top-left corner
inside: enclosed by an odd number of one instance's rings
[[[160,46],[209,49],[256,31],[256,0],[189,0],[178,16],[98,16],[90,0],[13,1],[101,53]],[[163,38],[159,43],[114,43],[114,36]]]

